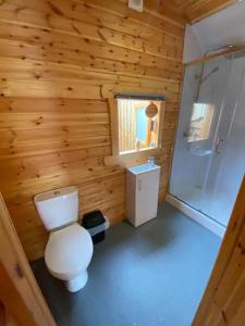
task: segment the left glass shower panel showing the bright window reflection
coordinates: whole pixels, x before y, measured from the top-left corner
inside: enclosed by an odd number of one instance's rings
[[[205,209],[204,192],[230,66],[231,61],[219,58],[185,71],[170,192],[199,211]]]

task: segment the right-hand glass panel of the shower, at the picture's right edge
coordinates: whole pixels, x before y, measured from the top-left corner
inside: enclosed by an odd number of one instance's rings
[[[224,226],[245,173],[245,52],[225,59],[232,63],[204,193],[205,213]]]

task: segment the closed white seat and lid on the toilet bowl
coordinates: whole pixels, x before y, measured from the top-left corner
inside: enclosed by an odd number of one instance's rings
[[[50,234],[45,262],[53,276],[68,280],[86,271],[91,254],[89,233],[75,223]]]

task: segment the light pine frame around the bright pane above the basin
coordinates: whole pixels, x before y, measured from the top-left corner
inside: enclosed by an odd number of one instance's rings
[[[125,98],[126,99],[126,98]],[[146,98],[144,100],[150,100],[150,98]],[[121,158],[124,161],[126,158],[128,159],[139,159],[146,154],[155,154],[158,153],[161,149],[161,135],[163,129],[163,120],[164,120],[164,104],[166,99],[156,99],[156,101],[160,101],[159,108],[159,127],[158,127],[158,140],[156,148],[144,148],[139,151],[127,151],[120,153],[119,150],[119,113],[118,113],[118,99],[110,98],[108,99],[109,111],[110,111],[110,128],[111,128],[111,147],[112,147],[112,156]]]

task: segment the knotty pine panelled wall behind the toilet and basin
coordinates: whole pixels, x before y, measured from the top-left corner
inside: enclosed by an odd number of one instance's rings
[[[111,155],[108,98],[167,96],[160,200],[167,190],[182,79],[182,20],[137,13],[123,1],[0,3],[0,184],[29,260],[47,233],[33,197],[76,185],[81,213],[125,213],[125,168]]]

